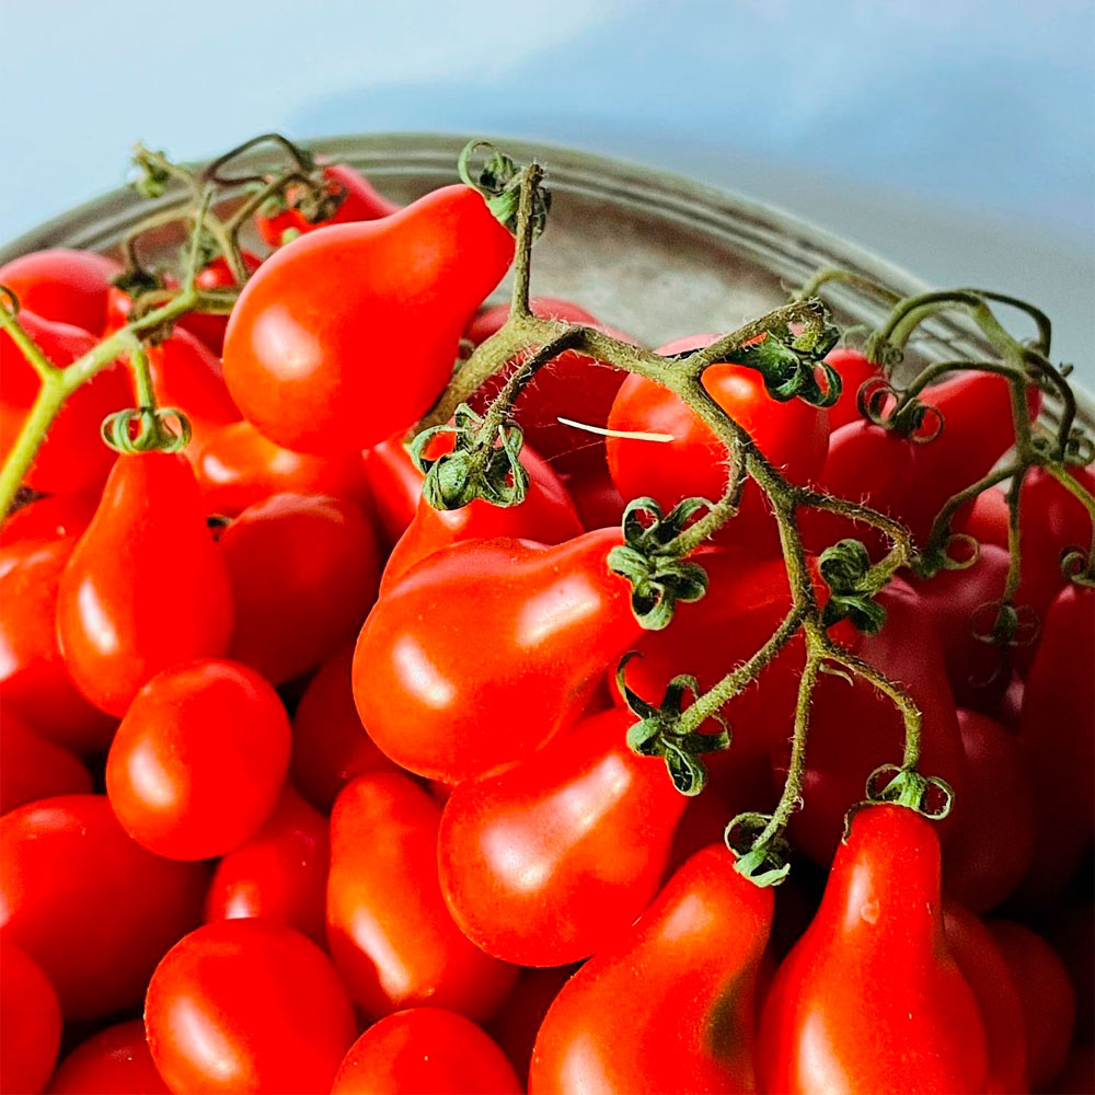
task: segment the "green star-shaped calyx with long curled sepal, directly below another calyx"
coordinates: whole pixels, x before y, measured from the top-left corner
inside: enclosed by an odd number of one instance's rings
[[[694,677],[675,677],[666,687],[666,694],[659,705],[647,703],[633,692],[624,681],[627,662],[635,657],[629,654],[616,670],[616,687],[629,708],[638,715],[638,722],[627,729],[627,748],[639,757],[660,757],[666,762],[673,786],[682,794],[700,794],[707,783],[707,768],[700,759],[703,753],[718,752],[729,748],[730,733],[721,715],[712,717],[723,727],[718,734],[701,734],[699,730],[678,728],[684,696],[700,694],[700,683]]]

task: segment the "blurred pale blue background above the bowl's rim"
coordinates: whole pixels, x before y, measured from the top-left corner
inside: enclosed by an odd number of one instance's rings
[[[0,0],[0,238],[277,128],[515,134],[1027,296],[1095,381],[1091,0]]]

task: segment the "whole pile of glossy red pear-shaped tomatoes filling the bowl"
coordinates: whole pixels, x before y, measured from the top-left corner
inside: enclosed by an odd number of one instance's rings
[[[431,508],[404,437],[505,322],[484,301],[514,239],[471,187],[396,209],[327,170],[334,222],[260,218],[296,238],[246,255],[227,326],[192,314],[150,341],[189,443],[102,443],[134,404],[119,359],[0,527],[0,1092],[1092,1091],[1095,590],[1060,567],[1091,542],[1080,502],[1023,484],[1036,639],[977,634],[1008,570],[995,489],[960,514],[972,566],[902,574],[879,633],[834,631],[907,687],[954,809],[861,804],[901,718],[822,675],[792,872],[758,886],[723,830],[776,800],[802,639],[726,704],[733,742],[695,797],[629,747],[625,693],[711,688],[779,626],[760,489],[694,555],[706,595],[644,631],[606,564],[624,500],[717,498],[725,457],[672,393],[569,350],[514,408],[525,499]],[[0,284],[65,367],[127,322],[118,269],[46,251]],[[233,278],[218,260],[199,283]],[[703,383],[788,480],[917,537],[1013,442],[999,376],[931,388],[946,429],[902,436],[857,407],[876,367],[828,360],[830,408],[733,362]],[[7,453],[37,378],[2,332],[0,372]],[[800,531],[815,554],[881,545],[833,515]]]

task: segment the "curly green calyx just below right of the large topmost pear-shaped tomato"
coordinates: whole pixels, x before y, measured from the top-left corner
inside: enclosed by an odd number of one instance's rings
[[[520,459],[525,443],[520,427],[503,423],[493,438],[484,438],[484,423],[461,403],[451,424],[424,429],[411,442],[411,459],[426,476],[423,497],[434,509],[460,509],[476,498],[502,507],[525,500],[529,473]],[[452,451],[428,458],[430,441],[442,434],[452,435]]]

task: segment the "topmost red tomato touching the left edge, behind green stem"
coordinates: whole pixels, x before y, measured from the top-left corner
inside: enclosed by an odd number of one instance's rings
[[[113,258],[58,247],[32,251],[0,266],[0,285],[15,295],[25,312],[97,332],[106,320],[111,281],[120,273]]]

